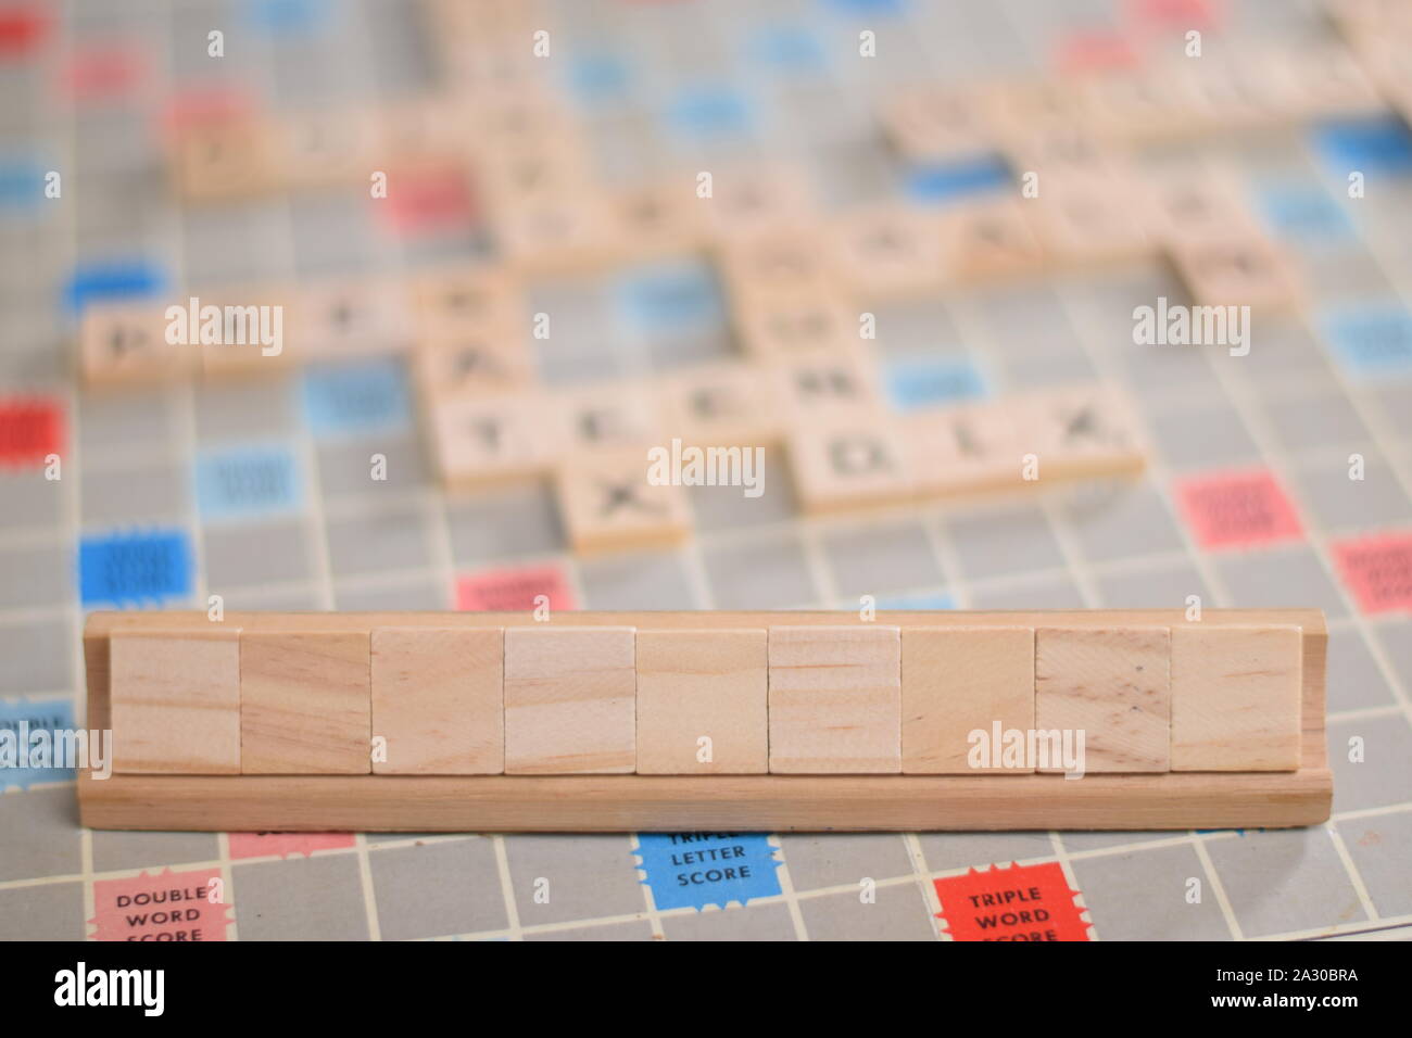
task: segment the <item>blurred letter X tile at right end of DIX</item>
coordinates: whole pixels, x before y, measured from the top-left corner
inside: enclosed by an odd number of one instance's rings
[[[1035,390],[1008,402],[1019,425],[1027,476],[1034,475],[1041,486],[1051,479],[1131,476],[1147,466],[1147,438],[1117,386]]]

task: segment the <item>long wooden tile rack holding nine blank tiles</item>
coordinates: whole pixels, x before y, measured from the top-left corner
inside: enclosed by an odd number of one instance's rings
[[[85,825],[1192,829],[1329,818],[1317,610],[95,613]],[[1086,733],[1084,774],[969,760]]]

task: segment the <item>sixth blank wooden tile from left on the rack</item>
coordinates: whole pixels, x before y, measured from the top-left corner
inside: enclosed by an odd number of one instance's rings
[[[770,770],[902,770],[901,638],[874,624],[770,628]]]

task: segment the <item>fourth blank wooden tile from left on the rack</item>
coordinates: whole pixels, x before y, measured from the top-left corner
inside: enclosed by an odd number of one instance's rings
[[[637,767],[631,627],[505,628],[505,774]]]

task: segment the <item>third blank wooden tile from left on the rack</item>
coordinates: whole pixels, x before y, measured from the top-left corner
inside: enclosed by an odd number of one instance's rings
[[[380,775],[505,770],[504,633],[498,627],[374,627],[373,737]]]

